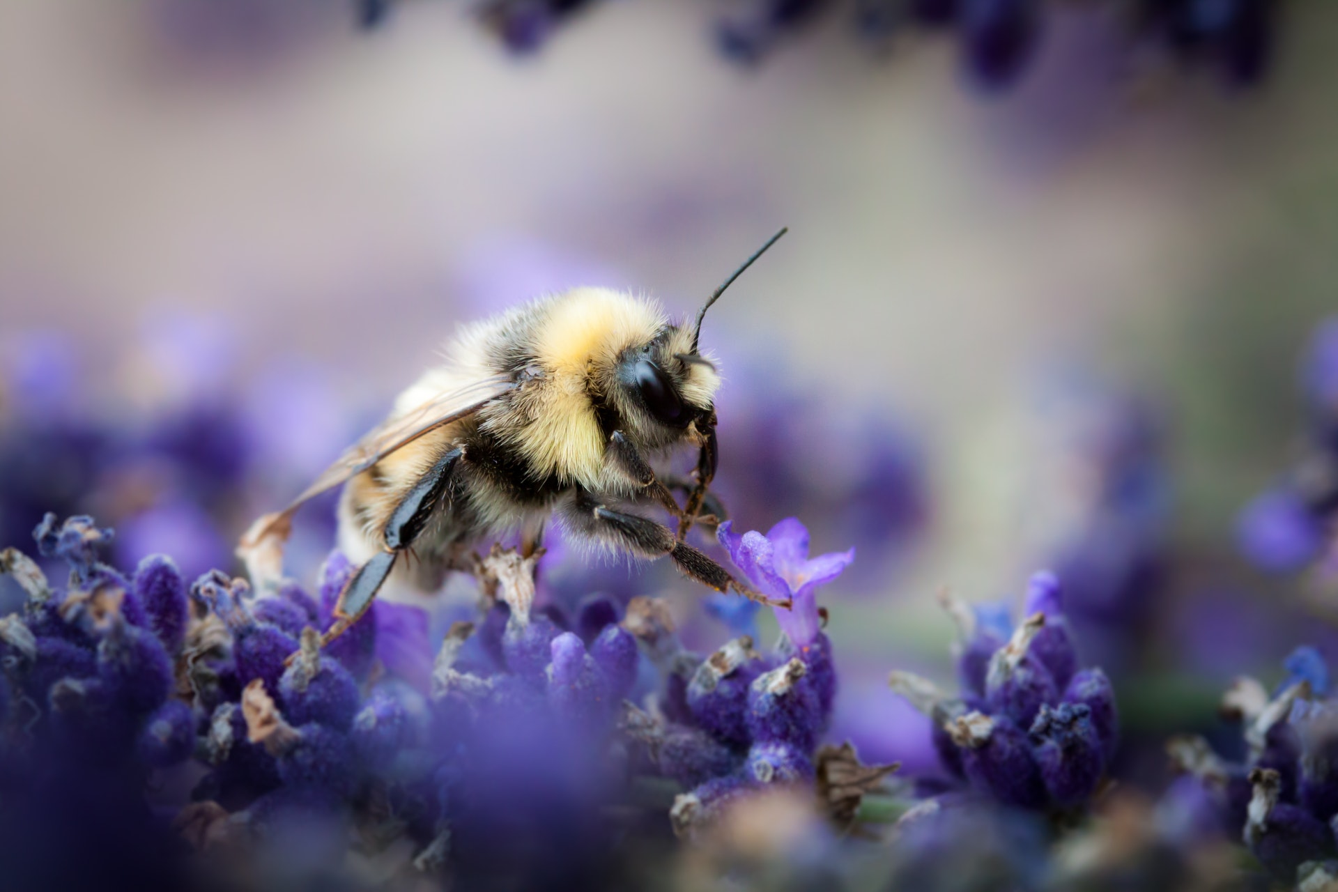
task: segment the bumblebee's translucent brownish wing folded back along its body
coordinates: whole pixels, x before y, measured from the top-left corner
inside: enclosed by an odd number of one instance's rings
[[[286,508],[257,519],[242,536],[237,550],[238,554],[246,559],[249,554],[253,554],[266,540],[277,544],[288,539],[288,534],[292,530],[293,514],[302,504],[322,492],[333,489],[349,477],[367,471],[385,456],[417,440],[424,433],[474,415],[490,401],[515,388],[515,385],[516,382],[508,376],[498,374],[483,378],[468,386],[434,397],[416,409],[411,409],[373,428],[361,440],[345,449],[344,455],[330,464],[330,467],[325,468],[312,481],[312,485],[302,489],[302,493],[293,499]],[[274,542],[276,539],[277,543]]]

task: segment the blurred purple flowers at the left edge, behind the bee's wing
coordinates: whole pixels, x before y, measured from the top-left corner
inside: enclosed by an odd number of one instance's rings
[[[0,542],[45,511],[92,512],[116,527],[123,564],[167,551],[191,575],[229,566],[234,531],[272,492],[300,488],[359,433],[314,364],[238,380],[238,344],[217,320],[155,322],[111,374],[55,334],[3,348]],[[332,532],[332,511],[309,512],[294,559],[314,564]]]

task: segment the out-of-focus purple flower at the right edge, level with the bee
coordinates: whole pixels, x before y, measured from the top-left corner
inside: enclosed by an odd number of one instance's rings
[[[1329,544],[1338,511],[1338,318],[1315,330],[1299,378],[1307,420],[1299,455],[1238,523],[1240,550],[1271,572],[1315,560]]]

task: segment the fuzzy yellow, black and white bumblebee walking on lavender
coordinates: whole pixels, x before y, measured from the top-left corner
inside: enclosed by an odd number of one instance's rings
[[[260,518],[238,554],[278,566],[293,514],[344,484],[339,546],[356,564],[325,633],[333,639],[372,604],[407,554],[439,580],[472,547],[520,532],[539,547],[555,519],[577,542],[633,556],[668,556],[717,591],[765,598],[685,542],[716,472],[716,364],[698,348],[706,310],[769,249],[757,249],[712,293],[690,326],[648,298],[578,288],[464,326],[446,362],[404,391],[371,431],[280,512]],[[693,480],[650,461],[698,449]],[[686,492],[682,507],[672,489]],[[670,528],[634,511],[658,506]],[[412,552],[411,552],[412,550]],[[261,559],[258,555],[264,555]],[[277,574],[276,574],[277,575]]]

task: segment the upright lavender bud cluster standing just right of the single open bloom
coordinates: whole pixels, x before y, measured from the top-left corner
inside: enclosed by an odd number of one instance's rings
[[[1100,669],[1078,666],[1058,579],[1032,578],[1013,627],[1002,604],[945,599],[961,630],[961,691],[894,671],[892,690],[933,721],[947,796],[969,789],[999,805],[1081,812],[1111,768],[1115,691]]]

